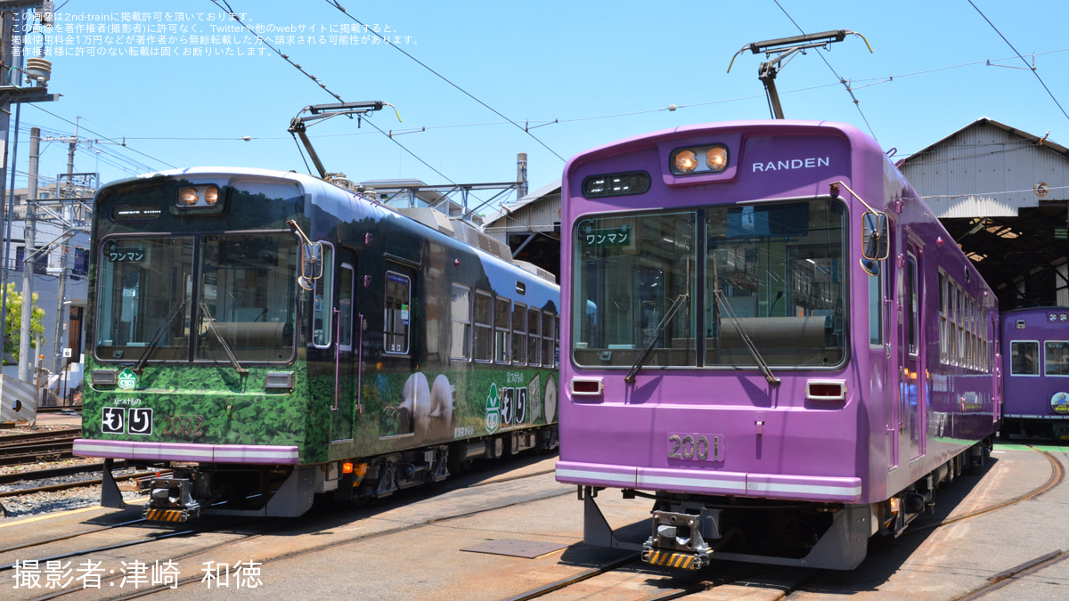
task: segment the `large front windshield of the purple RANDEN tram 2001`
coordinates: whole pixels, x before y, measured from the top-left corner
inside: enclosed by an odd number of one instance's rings
[[[574,230],[577,366],[757,369],[845,359],[841,201],[589,216]],[[703,336],[698,335],[701,332]]]

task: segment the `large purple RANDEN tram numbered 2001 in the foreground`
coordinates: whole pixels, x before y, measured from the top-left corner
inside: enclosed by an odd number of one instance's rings
[[[654,565],[851,569],[1001,418],[994,294],[877,142],[742,121],[573,157],[558,481]],[[604,489],[653,500],[642,544]]]

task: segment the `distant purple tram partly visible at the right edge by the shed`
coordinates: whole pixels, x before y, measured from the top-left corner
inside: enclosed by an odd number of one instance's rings
[[[1002,436],[1069,438],[1069,307],[1017,309],[1002,315]]]

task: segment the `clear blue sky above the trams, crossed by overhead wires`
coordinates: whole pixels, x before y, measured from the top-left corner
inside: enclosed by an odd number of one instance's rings
[[[398,47],[467,93],[529,123],[536,140],[398,48],[371,44],[362,28],[358,37],[367,43],[352,44],[357,24],[326,0],[229,0],[247,25],[263,26],[267,42],[345,101],[394,105],[403,122],[388,110],[372,120],[403,133],[397,142],[419,157],[367,123],[357,128],[355,120],[334,119],[309,129],[328,170],[355,181],[501,182],[515,178],[516,153],[526,152],[531,189],[560,176],[564,163],[554,153],[567,159],[656,129],[768,118],[757,79],[763,56],[740,55],[730,73],[728,64],[744,45],[796,35],[799,28],[850,29],[864,34],[873,52],[851,36],[831,51],[795,57],[777,78],[788,118],[854,124],[884,149],[897,148],[899,157],[980,117],[1039,136],[1050,130],[1052,140],[1069,145],[1069,118],[1036,77],[1069,110],[1069,2],[973,2],[997,32],[967,0],[341,0],[363,24],[384,34],[388,26],[391,41],[400,36]],[[62,98],[22,107],[19,171],[26,170],[30,125],[71,136],[76,121],[81,139],[99,141],[79,144],[75,170],[99,171],[105,182],[172,166],[306,171],[286,126],[303,107],[336,98],[269,48],[249,45],[252,35],[244,29],[213,31],[237,25],[210,20],[226,12],[216,3],[56,3],[62,20],[44,33],[63,34],[62,45],[53,37],[48,46],[63,56],[46,57],[52,62],[49,91]],[[310,28],[315,44],[308,44]],[[1009,68],[1025,64],[998,32],[1029,63],[1036,55],[1035,73]],[[301,36],[305,44],[298,44]],[[342,44],[343,37],[351,43]],[[43,41],[31,35],[27,53],[35,56]],[[165,47],[171,56],[162,56]],[[149,56],[140,56],[142,48]],[[235,56],[222,56],[227,51]],[[988,66],[989,60],[1006,66]],[[856,106],[833,68],[851,82]],[[665,110],[669,105],[679,108]],[[123,140],[126,147],[115,143]],[[43,149],[44,174],[66,170],[66,144]],[[20,175],[16,185],[25,181]]]

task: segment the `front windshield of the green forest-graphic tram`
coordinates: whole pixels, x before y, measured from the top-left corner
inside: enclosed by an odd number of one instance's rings
[[[228,348],[238,361],[293,358],[292,234],[114,237],[98,262],[99,359],[228,361]]]

